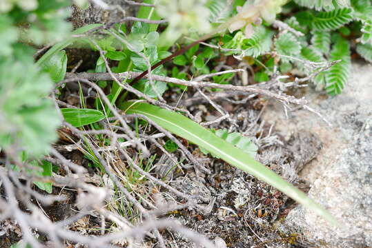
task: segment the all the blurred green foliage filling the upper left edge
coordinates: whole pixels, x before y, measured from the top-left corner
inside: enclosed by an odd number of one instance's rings
[[[47,96],[53,81],[64,78],[67,65],[64,51],[50,51],[50,56],[35,63],[33,47],[70,35],[71,24],[65,21],[69,3],[34,0],[0,4],[0,149],[18,161],[12,169],[29,175],[52,176],[52,164],[39,158],[48,154],[50,144],[57,140],[61,118]],[[48,181],[34,184],[52,192]]]

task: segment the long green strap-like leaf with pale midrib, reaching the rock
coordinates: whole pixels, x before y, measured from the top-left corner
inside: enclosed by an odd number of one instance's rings
[[[320,205],[317,205],[317,203],[308,198],[306,194],[293,187],[293,185],[287,183],[286,180],[283,180],[271,169],[255,161],[251,156],[242,152],[241,149],[224,141],[224,139],[219,138],[213,134],[213,132],[191,121],[182,114],[164,110],[147,103],[126,102],[121,104],[120,107],[127,114],[143,114],[147,116],[155,121],[157,125],[164,127],[169,132],[186,138],[188,141],[208,150],[211,154],[216,154],[227,163],[273,185],[273,187],[276,187],[284,194],[287,194],[305,207],[308,207],[326,220],[329,220],[330,223],[338,225],[337,220],[335,220],[328,211],[320,207]]]

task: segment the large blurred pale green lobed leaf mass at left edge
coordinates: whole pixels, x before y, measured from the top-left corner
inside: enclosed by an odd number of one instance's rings
[[[0,61],[0,147],[20,145],[41,156],[57,138],[60,120],[52,101],[44,98],[52,81],[24,56]]]

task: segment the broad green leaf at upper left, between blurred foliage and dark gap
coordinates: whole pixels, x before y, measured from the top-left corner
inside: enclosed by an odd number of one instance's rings
[[[42,65],[43,72],[48,72],[55,83],[65,78],[67,69],[67,55],[64,50],[56,52]]]

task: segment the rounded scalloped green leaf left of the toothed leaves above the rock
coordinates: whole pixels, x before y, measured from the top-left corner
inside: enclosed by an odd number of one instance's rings
[[[288,61],[290,59],[285,56],[297,56],[300,54],[301,44],[297,41],[297,38],[290,32],[286,32],[275,41],[275,48],[281,57],[282,61]]]

